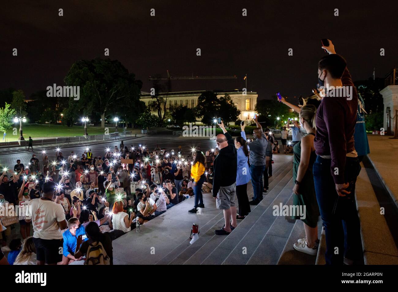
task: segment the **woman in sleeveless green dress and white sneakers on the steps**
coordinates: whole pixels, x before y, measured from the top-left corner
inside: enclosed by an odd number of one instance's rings
[[[316,255],[318,248],[318,217],[319,207],[316,201],[314,176],[312,165],[315,162],[316,154],[314,138],[316,107],[312,104],[305,105],[300,109],[300,126],[308,133],[302,137],[293,148],[293,206],[298,206],[299,214],[294,219],[301,219],[304,223],[306,238],[297,240],[293,245],[297,251]],[[300,215],[301,214],[301,215]]]

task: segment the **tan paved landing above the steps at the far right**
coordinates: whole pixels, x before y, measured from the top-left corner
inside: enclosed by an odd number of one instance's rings
[[[395,205],[398,207],[398,139],[392,136],[368,135],[369,160]]]

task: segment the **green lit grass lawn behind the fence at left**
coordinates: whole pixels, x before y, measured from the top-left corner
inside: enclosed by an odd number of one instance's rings
[[[17,128],[16,135],[13,135],[13,130],[10,129],[6,133],[5,140],[2,140],[3,137],[0,137],[0,142],[5,141],[18,141],[20,137],[20,127],[15,126]],[[119,128],[119,131],[122,131],[123,128]],[[131,131],[131,129],[127,129]],[[22,126],[23,137],[25,140],[29,139],[29,136],[32,139],[37,139],[41,137],[74,137],[74,136],[83,136],[84,135],[84,126],[73,126],[67,127],[63,125],[23,125]],[[115,127],[109,128],[109,133],[113,133],[115,131]],[[104,133],[104,130],[100,127],[92,127],[87,126],[88,135],[100,135]]]

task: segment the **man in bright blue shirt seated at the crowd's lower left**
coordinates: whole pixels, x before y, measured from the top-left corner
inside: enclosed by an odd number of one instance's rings
[[[76,259],[74,252],[77,246],[77,238],[82,236],[84,241],[87,240],[86,230],[80,225],[79,219],[72,217],[68,220],[68,229],[62,234],[64,238],[64,246],[62,250],[62,265],[68,265],[74,261],[80,261],[82,258]]]

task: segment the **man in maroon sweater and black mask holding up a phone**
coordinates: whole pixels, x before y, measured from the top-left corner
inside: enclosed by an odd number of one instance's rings
[[[329,55],[318,64],[324,95],[316,112],[317,155],[314,184],[326,234],[326,264],[352,263],[361,257],[361,235],[355,205],[355,182],[361,166],[354,147],[358,95],[343,57],[331,41]]]

